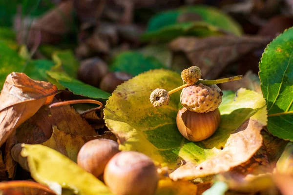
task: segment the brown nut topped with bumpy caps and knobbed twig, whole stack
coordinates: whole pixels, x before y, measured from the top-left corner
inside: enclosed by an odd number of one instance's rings
[[[191,66],[181,72],[181,78],[186,84],[169,92],[165,89],[155,89],[149,99],[154,107],[164,106],[169,102],[169,95],[182,89],[180,102],[184,107],[177,113],[178,130],[190,141],[202,141],[213,135],[221,120],[218,107],[222,102],[223,92],[216,84],[239,80],[242,77],[203,80],[200,79],[200,68]]]

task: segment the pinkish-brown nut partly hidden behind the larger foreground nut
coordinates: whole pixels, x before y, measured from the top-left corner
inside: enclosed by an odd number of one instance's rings
[[[118,143],[110,139],[94,139],[86,142],[77,155],[77,164],[85,171],[99,177],[108,161],[119,153]]]

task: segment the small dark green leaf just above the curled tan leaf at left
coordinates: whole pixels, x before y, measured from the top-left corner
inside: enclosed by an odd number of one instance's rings
[[[37,59],[29,61],[23,73],[35,80],[47,81],[48,76],[46,71],[50,70],[55,63],[47,59]]]

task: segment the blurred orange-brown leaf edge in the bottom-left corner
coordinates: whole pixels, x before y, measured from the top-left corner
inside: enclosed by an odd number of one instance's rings
[[[0,182],[2,195],[56,195],[47,186],[33,181]]]

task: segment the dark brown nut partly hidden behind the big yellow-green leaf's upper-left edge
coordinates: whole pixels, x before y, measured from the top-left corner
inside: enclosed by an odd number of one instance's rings
[[[132,78],[131,75],[125,72],[108,73],[101,81],[100,88],[108,93],[113,93],[116,87],[124,81]]]

